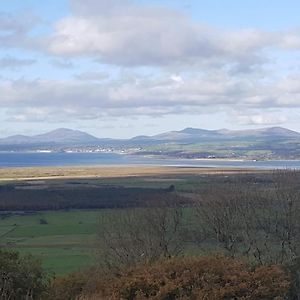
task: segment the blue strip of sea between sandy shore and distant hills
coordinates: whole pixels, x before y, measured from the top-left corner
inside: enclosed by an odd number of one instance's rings
[[[153,158],[117,153],[0,153],[0,168],[50,166],[182,166],[205,168],[300,169],[300,160],[224,160]]]

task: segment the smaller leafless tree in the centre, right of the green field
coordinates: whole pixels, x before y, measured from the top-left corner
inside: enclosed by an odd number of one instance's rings
[[[182,252],[182,207],[177,202],[107,211],[99,220],[99,252],[107,267],[133,266]]]

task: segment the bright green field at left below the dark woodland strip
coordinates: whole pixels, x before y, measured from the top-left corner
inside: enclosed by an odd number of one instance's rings
[[[100,211],[12,215],[0,221],[2,247],[31,253],[57,274],[87,268],[96,254]],[[48,224],[40,224],[40,220]]]

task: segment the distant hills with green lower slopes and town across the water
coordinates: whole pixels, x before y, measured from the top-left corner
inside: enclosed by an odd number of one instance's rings
[[[300,133],[283,127],[248,130],[185,128],[130,139],[98,138],[60,128],[0,139],[0,151],[114,151],[174,158],[300,159]]]

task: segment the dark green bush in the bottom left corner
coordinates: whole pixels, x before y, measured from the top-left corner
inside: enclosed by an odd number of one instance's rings
[[[39,261],[17,252],[0,251],[0,298],[3,300],[42,299],[49,277]]]

